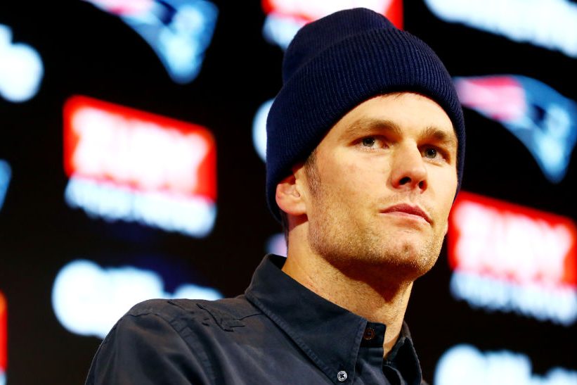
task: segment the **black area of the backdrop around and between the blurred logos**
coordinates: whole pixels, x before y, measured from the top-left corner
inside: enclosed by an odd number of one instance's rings
[[[181,282],[242,293],[280,226],[264,199],[264,163],[252,144],[257,108],[280,89],[283,51],[261,34],[259,1],[213,1],[219,18],[200,75],[172,82],[150,46],[122,20],[83,1],[2,1],[0,23],[44,63],[39,93],[24,103],[0,99],[0,159],[11,179],[0,211],[0,291],[8,302],[8,384],[80,384],[100,339],[71,334],[51,306],[63,265],[88,258],[101,266],[161,272],[167,289]],[[525,75],[577,99],[576,61],[458,24],[444,23],[421,1],[406,1],[404,28],[422,37],[455,76]],[[568,33],[577,33],[575,31]],[[63,103],[73,94],[208,127],[216,138],[218,215],[205,239],[134,223],[91,220],[63,198]],[[467,157],[462,188],[577,219],[575,156],[559,184],[501,125],[465,109]],[[160,262],[162,261],[162,263]],[[575,325],[510,313],[485,313],[455,301],[443,249],[415,284],[406,320],[425,373],[451,346],[529,355],[533,372],[577,369]]]

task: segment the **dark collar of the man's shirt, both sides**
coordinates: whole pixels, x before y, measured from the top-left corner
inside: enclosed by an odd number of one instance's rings
[[[245,293],[247,299],[283,329],[329,378],[336,379],[340,370],[354,375],[367,320],[299,284],[280,270],[284,263],[283,257],[266,255],[254,272]],[[401,359],[408,362],[395,365],[397,369],[403,373],[416,368],[420,378],[420,365],[406,324],[387,362]]]

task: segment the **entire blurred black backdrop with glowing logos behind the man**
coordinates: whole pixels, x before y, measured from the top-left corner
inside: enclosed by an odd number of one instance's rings
[[[352,6],[431,45],[465,106],[406,314],[425,379],[577,384],[574,1],[78,0],[0,5],[1,385],[80,384],[134,303],[235,296],[285,253],[264,121],[294,32]]]

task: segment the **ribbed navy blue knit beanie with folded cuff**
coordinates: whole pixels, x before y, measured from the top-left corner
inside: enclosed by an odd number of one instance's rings
[[[338,11],[302,27],[283,60],[283,88],[266,121],[266,198],[280,221],[277,184],[304,162],[346,113],[373,96],[424,94],[447,113],[458,138],[458,181],[465,123],[453,80],[422,40],[365,8]]]

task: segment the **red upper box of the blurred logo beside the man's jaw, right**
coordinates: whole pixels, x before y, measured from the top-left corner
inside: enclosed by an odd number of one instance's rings
[[[449,229],[455,271],[577,288],[577,229],[567,217],[461,192]]]

